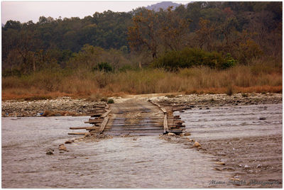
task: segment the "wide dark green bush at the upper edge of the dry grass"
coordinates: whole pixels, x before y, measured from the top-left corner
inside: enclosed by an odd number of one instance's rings
[[[235,63],[236,60],[229,54],[224,58],[219,52],[207,52],[195,48],[185,48],[181,51],[165,53],[165,55],[153,62],[152,67],[162,67],[170,71],[196,66],[226,69],[234,66]]]

